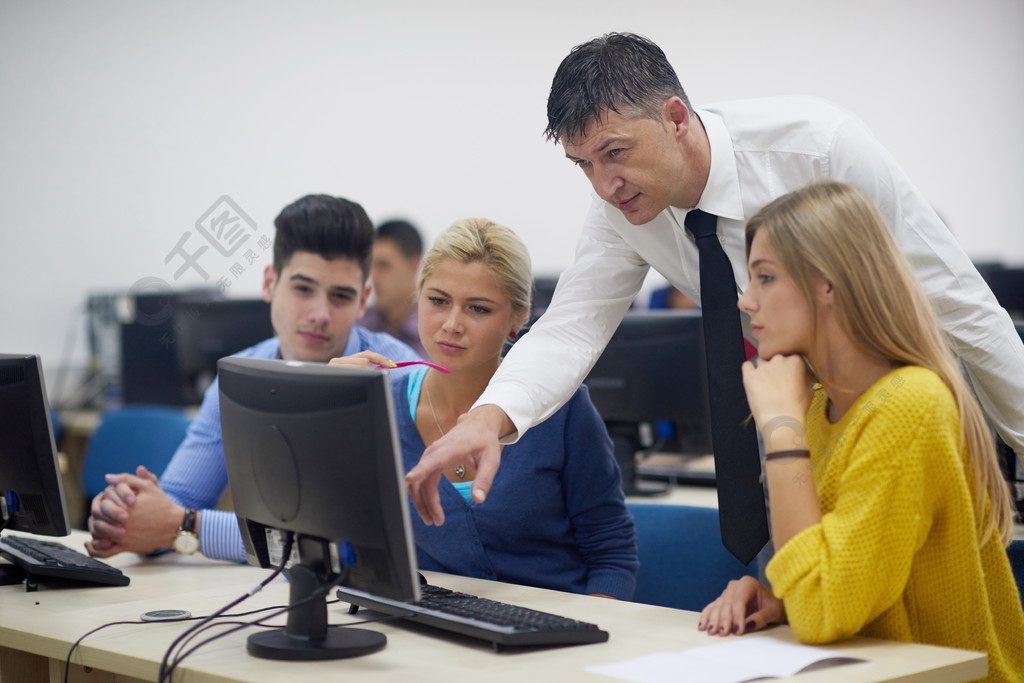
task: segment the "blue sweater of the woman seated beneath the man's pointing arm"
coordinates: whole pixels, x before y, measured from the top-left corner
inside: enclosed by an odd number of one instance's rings
[[[408,472],[426,447],[413,416],[418,372],[394,377]],[[409,384],[414,383],[410,401]],[[586,387],[502,451],[487,500],[468,503],[440,482],[444,524],[413,513],[421,569],[624,600],[636,588],[636,535],[608,432]]]

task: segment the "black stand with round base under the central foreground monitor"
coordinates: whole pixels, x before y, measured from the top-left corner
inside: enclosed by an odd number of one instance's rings
[[[331,582],[314,568],[297,564],[291,569],[288,625],[249,637],[246,649],[264,659],[307,661],[342,659],[376,652],[387,644],[383,633],[347,627],[328,628],[327,594],[310,599]]]

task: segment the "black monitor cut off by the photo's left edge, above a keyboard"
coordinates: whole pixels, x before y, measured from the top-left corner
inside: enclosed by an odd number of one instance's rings
[[[0,354],[0,416],[4,528],[67,536],[71,525],[39,356]]]

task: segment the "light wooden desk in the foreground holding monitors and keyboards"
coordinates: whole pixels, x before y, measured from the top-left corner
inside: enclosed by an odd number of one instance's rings
[[[63,539],[80,548],[86,535]],[[207,614],[243,594],[266,570],[164,555],[156,559],[126,554],[110,560],[131,577],[124,588],[41,589],[0,587],[0,679],[59,681],[72,643],[110,622],[135,621],[144,611],[187,609]],[[717,640],[696,630],[697,614],[666,607],[617,602],[510,584],[425,572],[431,583],[468,593],[593,622],[610,634],[607,643],[498,654],[477,641],[398,622],[366,626],[387,635],[380,652],[334,661],[271,661],[246,652],[251,632],[234,633],[190,655],[176,681],[612,681],[585,669],[659,651],[679,651]],[[279,579],[233,611],[287,602],[287,582]],[[361,617],[365,612],[360,611]],[[344,603],[329,607],[333,624],[355,621]],[[283,620],[282,620],[283,623]],[[113,626],[86,638],[72,658],[72,681],[119,683],[156,680],[164,650],[187,623]],[[762,634],[795,642],[786,627]],[[983,653],[853,638],[829,646],[867,659],[800,675],[803,683],[844,681],[968,681],[985,675]],[[116,677],[116,678],[115,678]]]

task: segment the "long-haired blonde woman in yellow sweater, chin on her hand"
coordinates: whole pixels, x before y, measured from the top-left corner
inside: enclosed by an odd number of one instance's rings
[[[772,588],[731,582],[698,628],[788,622],[807,643],[982,650],[988,680],[1024,680],[1009,490],[881,216],[850,185],[813,184],[751,219],[746,253],[739,307],[760,360],[743,383],[765,445]]]

